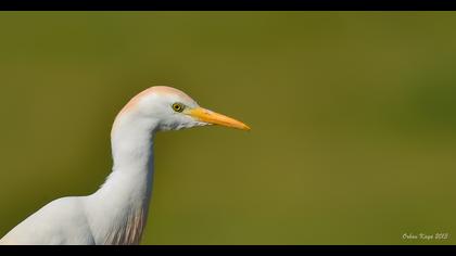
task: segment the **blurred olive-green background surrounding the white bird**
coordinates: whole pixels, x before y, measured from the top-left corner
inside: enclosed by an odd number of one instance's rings
[[[94,192],[115,115],[166,85],[252,131],[157,135],[142,244],[455,244],[455,12],[2,12],[0,236]]]

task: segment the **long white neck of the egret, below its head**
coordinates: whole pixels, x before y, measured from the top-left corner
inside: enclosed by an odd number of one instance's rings
[[[153,181],[153,119],[117,117],[111,133],[113,170],[91,196],[98,210],[92,227],[98,243],[138,244]]]

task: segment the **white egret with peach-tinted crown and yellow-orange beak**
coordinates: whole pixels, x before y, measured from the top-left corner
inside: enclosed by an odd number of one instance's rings
[[[139,244],[152,191],[155,132],[205,125],[250,130],[239,120],[200,107],[175,88],[140,92],[114,120],[112,172],[100,189],[50,202],[0,244]]]

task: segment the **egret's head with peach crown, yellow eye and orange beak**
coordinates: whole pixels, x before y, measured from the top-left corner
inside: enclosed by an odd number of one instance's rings
[[[250,127],[231,117],[212,112],[182,91],[164,86],[151,87],[134,97],[119,114],[135,112],[144,119],[153,119],[157,130],[179,130],[205,125],[219,125],[242,130]]]

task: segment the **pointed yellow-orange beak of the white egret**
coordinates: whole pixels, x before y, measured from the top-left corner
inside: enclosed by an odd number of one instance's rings
[[[188,114],[201,121],[205,121],[208,124],[226,126],[241,130],[250,130],[250,127],[243,124],[242,121],[212,112],[210,110],[205,110],[203,107],[195,107],[193,110],[190,110]]]

